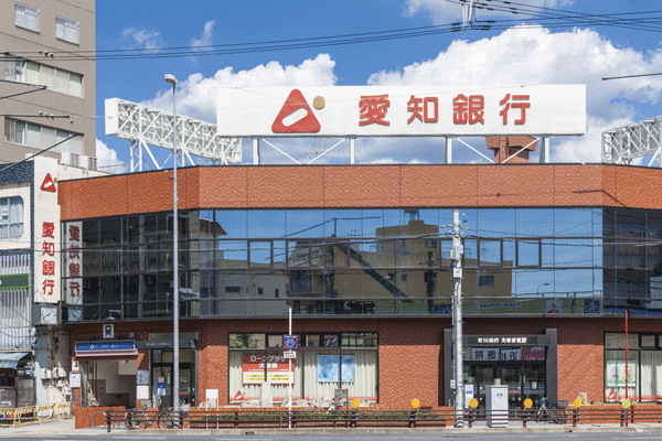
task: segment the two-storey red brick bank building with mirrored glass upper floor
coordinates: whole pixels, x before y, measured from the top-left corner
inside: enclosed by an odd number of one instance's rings
[[[172,172],[60,183],[63,318],[84,405],[171,397]],[[449,224],[463,218],[465,381],[662,397],[662,171],[605,164],[195,166],[178,176],[180,398],[452,400]],[[81,252],[78,252],[81,251]],[[282,361],[288,309],[299,335]]]

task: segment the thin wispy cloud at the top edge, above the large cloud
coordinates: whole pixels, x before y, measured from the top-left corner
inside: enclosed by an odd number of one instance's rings
[[[478,3],[478,2],[476,2]],[[485,2],[482,1],[482,4]],[[501,4],[500,4],[501,3]],[[503,4],[504,2],[493,2],[489,6],[493,9],[492,11],[487,9],[474,8],[476,19],[485,20],[494,17],[510,17],[514,20],[524,17],[523,12],[536,10],[537,8],[560,8],[563,6],[572,4],[570,0],[528,0],[526,2],[528,8],[523,8],[519,4]],[[517,14],[512,12],[505,12],[502,9],[516,8]],[[447,24],[462,21],[462,7],[458,1],[442,1],[442,0],[406,0],[404,6],[404,14],[406,17],[413,17],[417,13],[428,13],[435,24]]]

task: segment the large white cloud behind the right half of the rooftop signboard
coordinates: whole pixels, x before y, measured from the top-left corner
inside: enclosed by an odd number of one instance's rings
[[[616,76],[623,68],[628,74],[656,72],[661,62],[662,46],[647,54],[616,47],[591,30],[552,33],[542,26],[512,28],[472,43],[456,40],[435,60],[375,73],[369,84],[586,84],[587,135],[564,140],[563,148],[557,154],[553,153],[553,158],[599,161],[600,131],[650,117],[638,115],[633,103],[655,104],[662,94],[662,77],[619,80],[602,80],[602,77]],[[552,151],[555,151],[554,144]]]

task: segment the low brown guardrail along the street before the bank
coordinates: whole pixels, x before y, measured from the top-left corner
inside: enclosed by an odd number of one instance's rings
[[[662,423],[662,407],[648,408],[637,405],[621,407],[585,406],[551,408],[547,412],[538,409],[509,409],[508,411],[488,411],[467,409],[459,415],[453,409],[413,409],[413,410],[333,410],[303,409],[293,410],[192,410],[180,411],[179,418],[172,410],[111,410],[105,412],[107,431],[111,427],[127,429],[241,429],[241,428],[356,428],[356,427],[452,427],[457,420],[472,428],[476,422],[499,426],[506,422],[520,422],[526,428],[532,422],[557,424],[618,423],[627,427],[633,423]]]

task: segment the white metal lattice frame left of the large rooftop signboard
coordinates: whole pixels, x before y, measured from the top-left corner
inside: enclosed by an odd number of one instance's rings
[[[149,170],[151,160],[157,170],[169,162],[167,158],[159,164],[149,146],[172,149],[172,114],[119,98],[106,99],[106,135],[128,139],[131,142],[130,171]],[[194,164],[192,155],[211,159],[213,163],[228,164],[242,162],[241,138],[224,138],[218,135],[216,125],[193,118],[177,118],[178,149],[182,152],[180,165],[186,159]]]

